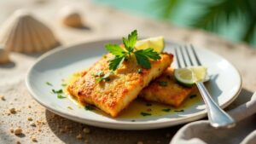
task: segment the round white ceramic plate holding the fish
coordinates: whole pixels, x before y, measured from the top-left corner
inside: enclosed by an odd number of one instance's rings
[[[74,121],[90,124],[97,127],[120,130],[148,130],[184,124],[206,116],[203,101],[196,102],[193,106],[164,116],[145,118],[110,118],[96,112],[85,111],[69,99],[58,99],[50,93],[51,89],[61,88],[61,79],[67,78],[73,72],[93,65],[107,51],[105,43],[120,43],[117,39],[101,40],[91,43],[81,43],[65,48],[53,49],[42,55],[32,66],[26,78],[26,85],[33,98],[51,112]],[[174,43],[166,42],[165,51],[172,52]],[[221,107],[227,107],[241,89],[241,76],[236,68],[219,55],[207,49],[195,49],[212,79],[207,84],[213,99]],[[175,64],[174,64],[175,65]],[[45,84],[50,82],[53,88]],[[73,107],[73,110],[67,108]],[[131,121],[132,120],[132,121]],[[134,121],[135,120],[135,121]]]

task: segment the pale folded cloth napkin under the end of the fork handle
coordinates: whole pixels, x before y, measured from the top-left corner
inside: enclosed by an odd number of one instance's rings
[[[246,118],[256,113],[256,92],[250,101],[228,113],[236,120],[236,127],[215,129],[207,120],[192,122],[178,130],[170,144],[256,144],[256,121],[254,127],[244,122]]]

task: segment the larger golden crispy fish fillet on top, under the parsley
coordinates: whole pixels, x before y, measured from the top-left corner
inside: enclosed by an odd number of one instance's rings
[[[79,78],[74,84],[67,86],[70,95],[78,98],[79,101],[95,105],[104,112],[116,117],[131,101],[137,98],[140,91],[146,87],[151,80],[160,76],[162,72],[171,65],[173,55],[161,54],[160,60],[150,60],[151,68],[138,72],[141,66],[137,66],[135,58],[125,60],[109,81],[96,82],[96,73],[110,72],[108,60],[113,55],[105,55],[90,67],[88,72]]]

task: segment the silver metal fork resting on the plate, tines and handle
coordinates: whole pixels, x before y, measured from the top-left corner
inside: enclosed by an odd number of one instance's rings
[[[199,60],[198,55],[196,55],[194,47],[190,45],[189,48],[187,46],[174,48],[174,52],[177,60],[177,68],[183,68],[187,66],[201,66],[201,61]],[[192,55],[189,55],[189,51],[190,51],[190,54],[192,53]],[[193,59],[192,56],[195,58],[194,60],[192,60]],[[182,66],[182,62],[183,62],[183,66]],[[212,96],[209,94],[207,88],[203,84],[206,81],[207,80],[203,80],[195,84],[199,89],[203,100],[206,103],[207,114],[208,114],[210,124],[212,125],[212,127],[215,127],[215,128],[223,128],[223,127],[231,128],[235,126],[236,124],[234,119],[231,118],[228,113],[224,112],[224,110],[218,107],[215,101],[212,100]]]

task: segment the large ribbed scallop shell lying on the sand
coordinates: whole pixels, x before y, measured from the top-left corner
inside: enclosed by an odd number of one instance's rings
[[[9,51],[42,52],[59,45],[53,32],[26,10],[15,11],[2,27],[0,43]]]

